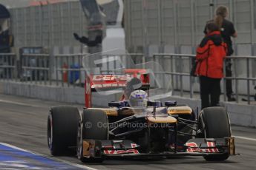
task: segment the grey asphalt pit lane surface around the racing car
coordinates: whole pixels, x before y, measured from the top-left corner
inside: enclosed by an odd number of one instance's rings
[[[240,155],[223,162],[209,163],[203,157],[173,157],[160,160],[111,159],[101,164],[85,164],[76,157],[52,157],[47,149],[47,115],[50,106],[63,104],[68,103],[0,94],[0,143],[27,149],[56,161],[84,166],[85,169],[256,169],[256,129],[240,126],[232,126],[236,150]],[[83,106],[78,107],[82,110]],[[1,159],[0,169],[4,169]]]

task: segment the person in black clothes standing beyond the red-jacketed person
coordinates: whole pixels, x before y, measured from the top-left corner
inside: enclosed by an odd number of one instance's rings
[[[234,50],[232,47],[232,39],[237,37],[237,32],[234,30],[234,24],[227,20],[226,17],[229,14],[229,10],[225,6],[217,7],[215,11],[214,22],[220,28],[221,36],[223,37],[224,42],[228,46],[227,56],[233,54]],[[205,30],[206,33],[206,30]],[[226,77],[232,77],[232,61],[230,58],[226,58]],[[232,80],[226,80],[226,96],[228,97],[228,101],[236,101],[234,98],[234,92],[232,90]]]

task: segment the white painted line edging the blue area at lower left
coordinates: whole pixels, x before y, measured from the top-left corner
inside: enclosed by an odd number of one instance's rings
[[[56,158],[56,157],[48,157],[48,156],[46,156],[44,154],[39,154],[39,153],[36,153],[36,152],[31,152],[31,151],[26,150],[26,149],[21,149],[19,147],[12,146],[12,145],[7,144],[7,143],[0,143],[0,145],[4,145],[4,146],[7,146],[7,147],[10,147],[10,148],[13,148],[13,149],[18,149],[18,150],[23,151],[23,152],[28,152],[28,153],[31,153],[31,154],[36,154],[36,155],[39,155],[41,157],[46,157],[46,158],[48,158],[50,160],[56,160],[56,161],[59,161],[61,163],[66,163],[66,164],[68,164],[70,166],[75,166],[75,167],[80,168],[80,169],[96,170],[96,169],[90,168],[88,166],[82,166],[82,165],[79,165],[79,164],[76,164],[76,163],[71,163],[68,160],[61,160],[61,159]]]

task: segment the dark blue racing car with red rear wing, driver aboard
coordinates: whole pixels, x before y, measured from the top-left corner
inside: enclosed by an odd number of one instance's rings
[[[96,89],[123,89],[119,101],[92,107]],[[85,108],[53,106],[47,118],[50,153],[76,150],[82,162],[106,157],[203,156],[226,160],[235,154],[229,115],[222,107],[194,112],[176,101],[151,100],[150,75],[145,69],[124,74],[88,75]]]

